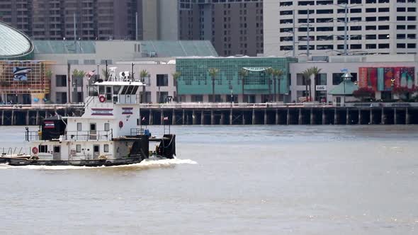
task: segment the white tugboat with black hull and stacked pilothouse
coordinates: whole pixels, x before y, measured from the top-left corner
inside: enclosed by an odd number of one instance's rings
[[[141,81],[115,76],[91,81],[81,117],[55,115],[43,120],[40,130],[29,131],[30,154],[3,154],[0,162],[11,166],[118,166],[137,164],[149,155],[173,159],[176,135],[151,137],[142,128],[139,88]],[[149,151],[149,144],[157,144]]]

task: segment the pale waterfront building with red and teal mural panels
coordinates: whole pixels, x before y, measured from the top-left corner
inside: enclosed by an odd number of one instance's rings
[[[330,56],[322,61],[290,63],[291,101],[300,102],[306,96],[303,71],[312,67],[321,69],[320,74],[312,76],[312,101],[334,102],[329,91],[343,81],[342,75],[349,72],[359,87],[370,87],[375,91],[376,100],[392,100],[395,87],[413,88],[417,86],[417,55],[358,55]]]

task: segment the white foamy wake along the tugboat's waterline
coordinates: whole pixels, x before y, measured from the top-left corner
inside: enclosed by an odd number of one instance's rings
[[[0,164],[0,170],[21,168],[28,170],[52,170],[52,171],[64,171],[64,170],[82,170],[82,169],[104,169],[104,168],[118,168],[124,170],[145,170],[152,168],[169,168],[180,164],[198,164],[196,161],[190,159],[161,159],[161,158],[149,158],[141,161],[139,164],[130,164],[123,166],[9,166],[8,164]]]

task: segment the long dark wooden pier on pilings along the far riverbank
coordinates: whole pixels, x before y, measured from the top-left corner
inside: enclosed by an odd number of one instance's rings
[[[141,105],[142,125],[409,125],[418,103],[318,104],[167,103]],[[3,105],[0,125],[40,125],[55,113],[80,116],[83,104]],[[167,120],[164,120],[165,119]]]

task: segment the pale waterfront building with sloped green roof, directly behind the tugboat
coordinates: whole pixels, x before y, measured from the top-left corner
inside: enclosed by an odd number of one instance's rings
[[[146,70],[145,103],[164,103],[176,97],[172,74],[176,71],[175,57],[216,57],[208,41],[45,41],[35,40],[35,59],[51,60],[51,101],[78,103],[86,98],[88,80],[77,81],[72,71],[94,71],[103,78],[103,71],[117,67],[116,72],[127,71],[140,79],[140,71]],[[75,47],[74,47],[75,45]],[[133,64],[133,66],[132,66]],[[126,73],[128,74],[128,73]],[[168,97],[168,98],[167,98]]]

